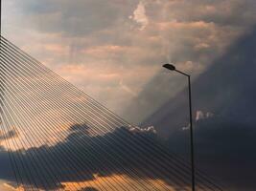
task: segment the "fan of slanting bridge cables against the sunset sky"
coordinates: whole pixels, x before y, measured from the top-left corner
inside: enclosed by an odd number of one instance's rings
[[[1,37],[1,132],[17,190],[191,190],[190,163]],[[197,171],[197,190],[222,188]]]

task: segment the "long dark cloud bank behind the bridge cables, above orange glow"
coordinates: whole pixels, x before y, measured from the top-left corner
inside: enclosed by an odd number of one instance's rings
[[[172,163],[172,155],[164,147],[163,152],[159,152],[161,143],[152,128],[134,128],[129,131],[128,128],[121,127],[96,137],[90,137],[87,130],[89,128],[86,124],[75,124],[69,129],[70,135],[54,146],[42,145],[11,152],[12,160],[16,161],[19,168],[16,173],[20,173],[22,182],[28,186],[33,184],[54,189],[62,187],[58,184],[59,181],[94,180],[95,174],[100,177],[127,175],[134,178],[132,173],[135,170],[137,180],[160,179],[180,188],[189,184],[188,169],[184,171],[180,168],[177,173],[183,173],[183,183],[177,181],[175,171],[168,170],[178,167]],[[6,152],[1,153],[4,154],[7,155]],[[0,159],[1,164],[8,161],[7,157]],[[9,180],[2,171],[1,176],[2,179]]]

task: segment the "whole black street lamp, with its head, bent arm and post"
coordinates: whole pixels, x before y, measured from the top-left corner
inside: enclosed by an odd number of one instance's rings
[[[164,68],[175,71],[179,74],[183,74],[188,77],[189,84],[189,114],[190,114],[190,151],[191,151],[191,177],[192,177],[192,191],[196,191],[195,188],[195,160],[194,160],[194,135],[193,135],[193,121],[192,121],[192,101],[191,101],[191,83],[190,83],[190,75],[182,73],[176,70],[175,66],[172,64],[164,64]]]

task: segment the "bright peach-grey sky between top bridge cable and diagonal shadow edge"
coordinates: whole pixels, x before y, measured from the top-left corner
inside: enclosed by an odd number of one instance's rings
[[[186,85],[162,64],[174,62],[196,78],[250,30],[254,12],[253,0],[3,0],[2,33],[139,123]]]

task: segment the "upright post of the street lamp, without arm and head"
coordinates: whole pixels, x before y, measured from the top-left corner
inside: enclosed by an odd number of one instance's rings
[[[194,160],[194,134],[193,134],[193,119],[192,119],[192,98],[191,98],[191,82],[190,75],[188,76],[189,83],[189,113],[190,113],[190,147],[191,147],[191,176],[192,176],[192,191],[196,191],[195,182],[195,160]]]

